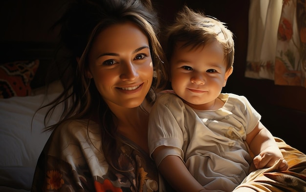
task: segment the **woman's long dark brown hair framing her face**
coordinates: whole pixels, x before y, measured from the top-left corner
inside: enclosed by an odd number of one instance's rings
[[[168,80],[163,62],[164,54],[157,34],[159,25],[157,15],[150,0],[77,0],[69,5],[63,17],[56,23],[61,25],[61,44],[57,61],[61,71],[64,92],[44,107],[50,107],[46,116],[52,114],[54,108],[63,105],[60,121],[48,126],[45,130],[58,128],[64,121],[89,119],[98,114],[102,131],[102,149],[109,165],[118,166],[116,158],[116,142],[119,140],[116,127],[112,121],[112,113],[102,99],[95,84],[86,76],[88,69],[88,52],[96,36],[115,23],[130,21],[138,25],[149,40],[154,67],[154,79],[146,99],[153,102],[155,91],[162,90]],[[76,58],[80,58],[76,61]]]

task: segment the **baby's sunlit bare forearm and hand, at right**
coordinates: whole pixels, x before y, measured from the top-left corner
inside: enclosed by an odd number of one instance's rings
[[[283,158],[283,154],[278,148],[272,134],[261,122],[246,135],[246,142],[252,152],[258,154],[253,159],[257,169],[272,167],[277,160]],[[287,170],[287,162],[283,160],[278,169],[281,171]]]

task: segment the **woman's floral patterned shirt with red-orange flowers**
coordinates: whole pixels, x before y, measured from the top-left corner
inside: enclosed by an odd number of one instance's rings
[[[158,171],[149,154],[127,138],[119,143],[125,176],[106,162],[99,126],[88,120],[63,123],[41,153],[31,192],[161,192]],[[129,145],[128,145],[129,144]]]

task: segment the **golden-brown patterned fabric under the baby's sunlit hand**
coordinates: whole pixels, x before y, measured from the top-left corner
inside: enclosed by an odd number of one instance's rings
[[[271,168],[260,170],[251,165],[249,175],[235,192],[306,192],[306,154],[290,147],[280,138],[275,137],[275,141],[288,162],[288,170],[275,169],[280,161]]]

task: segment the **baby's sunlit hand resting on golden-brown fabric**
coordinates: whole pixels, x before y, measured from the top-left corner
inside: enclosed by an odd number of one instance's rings
[[[276,161],[282,158],[283,155],[279,149],[275,150],[265,149],[259,155],[254,157],[253,163],[256,169],[269,168],[272,167]],[[278,167],[278,170],[285,171],[287,169],[288,169],[288,163],[286,160],[283,159]]]

